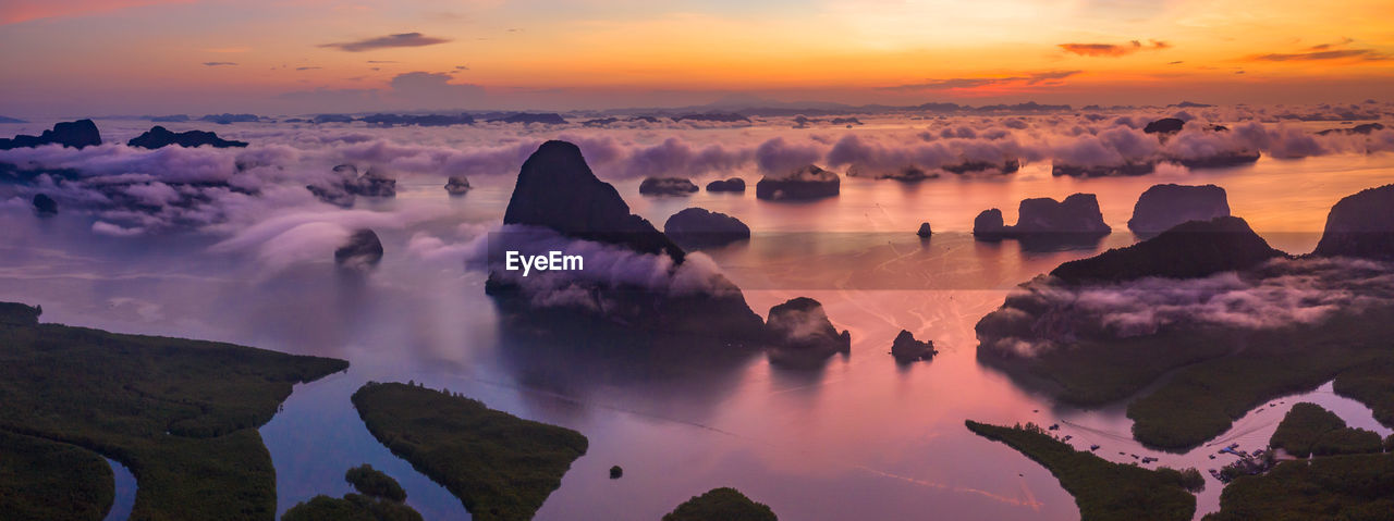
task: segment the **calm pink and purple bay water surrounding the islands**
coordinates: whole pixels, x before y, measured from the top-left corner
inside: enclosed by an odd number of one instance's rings
[[[1098,443],[1100,456],[1114,461],[1133,461],[1119,451],[1202,471],[1224,461],[1209,460],[1214,447],[1146,451],[1131,440],[1122,407],[1055,407],[979,366],[977,319],[1016,283],[1132,242],[1124,223],[1151,184],[1220,184],[1234,213],[1276,247],[1306,252],[1327,209],[1344,195],[1394,182],[1391,167],[1390,155],[1264,157],[1230,171],[1072,180],[1052,178],[1048,166],[1037,164],[995,180],[845,180],[839,198],[815,203],[758,202],[753,191],[650,199],[637,195],[637,181],[619,184],[634,210],[659,226],[690,205],[750,224],[756,238],[749,244],[710,254],[746,288],[751,308],[764,315],[807,295],[824,302],[839,329],[852,330],[850,357],[813,372],[772,368],[763,357],[718,368],[616,368],[565,347],[502,341],[482,273],[407,254],[415,233],[464,242],[461,223],[496,223],[512,189],[502,178],[477,180],[481,187],[461,199],[422,181],[378,206],[432,208],[445,217],[378,230],[388,254],[367,280],[336,276],[328,255],[269,272],[251,255],[209,252],[216,238],[95,237],[81,216],[39,221],[26,208],[0,206],[0,300],[42,304],[49,322],[350,359],[347,373],[297,387],[284,412],[261,430],[276,462],[282,510],[316,493],[348,492],[343,472],[371,462],[401,481],[408,503],[428,518],[467,518],[459,500],[378,444],[348,403],[365,380],[415,380],[590,439],[590,451],[539,520],[654,520],[717,486],[735,486],[786,520],[1068,520],[1078,517],[1073,499],[1044,468],[972,435],[963,419],[1059,422],[1076,446]],[[1023,252],[1012,241],[981,244],[962,234],[986,208],[1001,208],[1013,221],[1019,199],[1072,192],[1097,194],[1114,226],[1097,248]],[[942,234],[920,241],[913,235],[920,221]],[[901,329],[934,340],[941,354],[896,366],[887,351]],[[1260,407],[1214,443],[1264,444],[1295,400]],[[1388,433],[1368,408],[1328,386],[1301,400]],[[625,478],[612,481],[608,468],[616,464]],[[1220,492],[1206,479],[1200,511],[1214,510]]]

